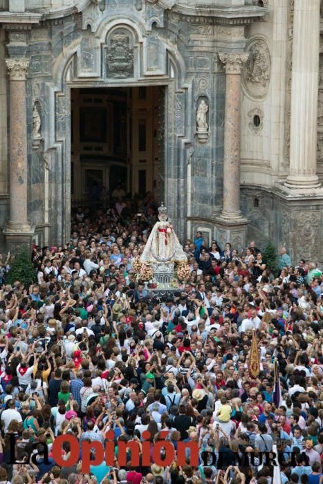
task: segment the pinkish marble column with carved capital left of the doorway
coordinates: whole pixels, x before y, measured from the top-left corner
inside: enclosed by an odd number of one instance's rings
[[[26,71],[28,59],[6,59],[10,77],[10,215],[8,228],[28,230]]]

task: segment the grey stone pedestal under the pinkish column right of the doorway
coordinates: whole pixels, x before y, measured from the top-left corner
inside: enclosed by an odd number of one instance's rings
[[[231,215],[231,214],[230,214]],[[230,242],[232,249],[239,252],[246,248],[247,244],[248,219],[238,212],[237,218],[226,218],[225,212],[216,219],[215,236],[221,248],[225,243]]]

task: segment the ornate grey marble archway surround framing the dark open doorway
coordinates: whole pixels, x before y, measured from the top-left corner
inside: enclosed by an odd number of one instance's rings
[[[169,46],[151,22],[150,32],[139,19],[129,15],[102,19],[87,27],[73,44],[57,55],[53,66],[54,83],[46,84],[44,151],[50,166],[48,187],[51,240],[62,243],[70,234],[71,207],[71,110],[72,88],[165,86],[160,105],[158,138],[160,142],[159,198],[167,203],[176,232],[184,238],[187,230],[186,166],[190,147],[185,86],[185,64],[174,47]],[[95,32],[93,32],[95,28]],[[55,240],[56,239],[56,240]]]

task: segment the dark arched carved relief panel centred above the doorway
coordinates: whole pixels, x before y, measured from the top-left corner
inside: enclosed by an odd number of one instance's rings
[[[107,73],[109,77],[125,79],[133,77],[133,47],[130,32],[118,28],[109,40],[107,50]]]

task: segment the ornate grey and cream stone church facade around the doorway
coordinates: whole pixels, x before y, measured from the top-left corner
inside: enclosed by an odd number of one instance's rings
[[[255,237],[323,261],[319,12],[319,0],[0,0],[0,244],[69,237],[71,88],[163,86],[156,194],[181,239]]]

